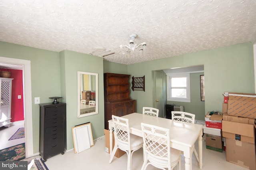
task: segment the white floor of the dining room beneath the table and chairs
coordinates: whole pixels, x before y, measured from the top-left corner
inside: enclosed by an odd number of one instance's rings
[[[197,147],[196,147],[197,149]],[[49,170],[126,170],[127,154],[120,158],[114,157],[112,163],[108,163],[110,155],[105,152],[105,137],[94,140],[94,146],[83,152],[74,153],[74,150],[58,154],[45,162]],[[132,156],[132,170],[140,170],[143,163],[143,150],[137,150]],[[196,158],[192,158],[192,169],[200,170]],[[203,170],[247,170],[230,162],[226,162],[226,153],[220,153],[206,149],[203,141]],[[147,170],[158,170],[148,166]],[[177,170],[177,167],[174,168]],[[182,156],[182,170],[184,170],[184,157]]]

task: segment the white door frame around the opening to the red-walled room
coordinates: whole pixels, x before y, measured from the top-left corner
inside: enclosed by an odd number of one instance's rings
[[[1,63],[22,65],[23,103],[25,121],[25,149],[26,158],[34,156],[33,126],[32,126],[32,92],[31,92],[31,65],[30,60],[0,57]]]

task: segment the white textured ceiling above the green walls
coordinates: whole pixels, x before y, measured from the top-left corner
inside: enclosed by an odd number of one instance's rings
[[[120,52],[131,33],[146,42],[144,56]],[[256,0],[1,0],[0,41],[140,63],[255,43]]]

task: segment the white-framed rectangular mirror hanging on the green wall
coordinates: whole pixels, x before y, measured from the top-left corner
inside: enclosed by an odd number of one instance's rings
[[[77,117],[98,114],[98,73],[77,72]]]

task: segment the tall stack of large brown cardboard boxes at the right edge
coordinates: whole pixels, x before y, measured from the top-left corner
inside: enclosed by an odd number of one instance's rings
[[[256,170],[256,94],[229,93],[223,110],[222,135],[226,138],[226,161]]]

